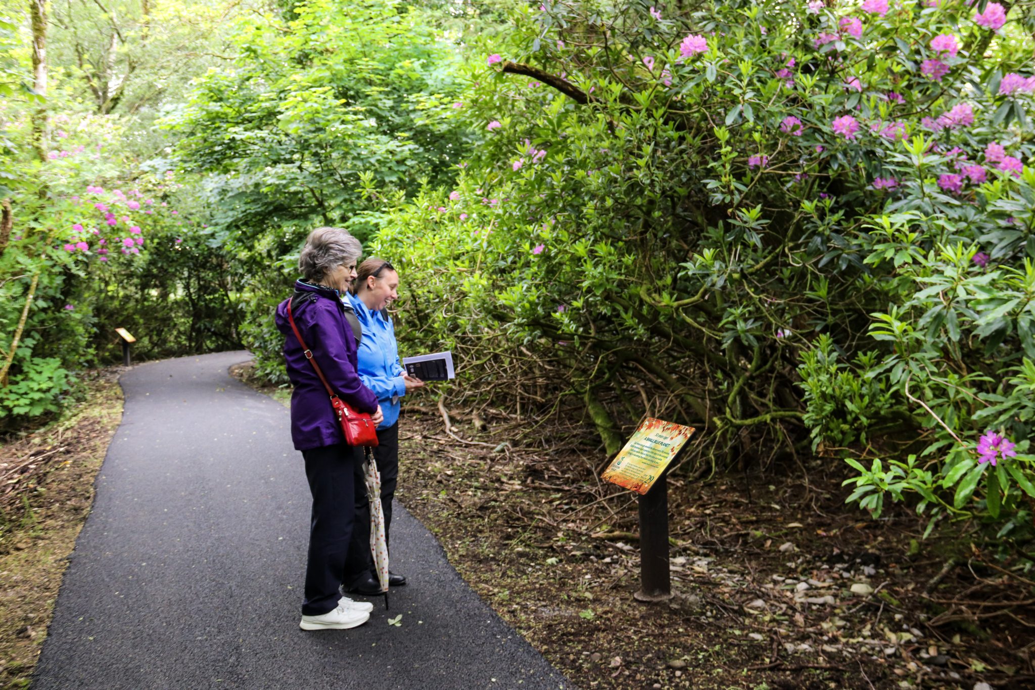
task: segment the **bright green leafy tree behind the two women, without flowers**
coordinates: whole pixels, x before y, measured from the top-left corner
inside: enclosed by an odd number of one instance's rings
[[[181,164],[207,175],[213,240],[244,273],[241,335],[270,380],[286,380],[272,307],[308,231],[342,226],[365,240],[378,221],[360,213],[371,207],[360,172],[415,191],[450,179],[466,149],[455,51],[425,19],[398,2],[342,11],[324,0],[243,19],[234,62],[165,120],[182,136]]]

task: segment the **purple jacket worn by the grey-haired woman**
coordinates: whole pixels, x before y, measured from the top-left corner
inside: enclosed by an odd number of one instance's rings
[[[358,412],[374,413],[378,396],[363,385],[356,373],[356,338],[345,320],[345,305],[336,290],[326,290],[298,280],[295,282],[292,313],[302,339],[337,396]],[[276,307],[276,328],[286,336],[284,359],[288,378],[295,390],[291,394],[291,440],[295,450],[309,450],[345,443],[342,426],[330,404],[327,389],[317,377],[313,363],[302,354],[288,321],[288,300]]]

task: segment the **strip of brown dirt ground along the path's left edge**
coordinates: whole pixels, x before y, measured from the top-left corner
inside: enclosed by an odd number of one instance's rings
[[[122,418],[121,367],[86,372],[72,414],[0,446],[0,687],[26,688],[93,480]]]

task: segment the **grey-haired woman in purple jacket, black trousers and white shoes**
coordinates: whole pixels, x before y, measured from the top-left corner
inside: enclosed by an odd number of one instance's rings
[[[302,277],[295,294],[276,308],[276,327],[287,336],[284,358],[294,385],[291,395],[291,438],[305,458],[305,476],[313,493],[302,630],[354,628],[369,619],[374,606],[342,596],[339,588],[352,537],[356,467],[363,461],[359,447],[350,446],[331,407],[327,389],[312,358],[334,393],[358,412],[384,420],[374,392],[356,373],[360,331],[342,297],[356,278],[362,247],[341,228],[318,228],[309,233],[298,257]],[[290,304],[290,312],[289,312]],[[351,319],[350,319],[351,316]],[[294,319],[294,325],[291,321]],[[294,326],[294,327],[293,327]],[[301,339],[308,347],[305,350]]]

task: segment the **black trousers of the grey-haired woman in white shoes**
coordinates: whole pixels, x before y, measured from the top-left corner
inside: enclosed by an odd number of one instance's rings
[[[362,480],[359,485],[356,484],[363,450],[336,444],[303,450],[302,457],[305,458],[305,477],[309,480],[309,491],[313,493],[302,614],[321,616],[334,610],[342,596],[337,588],[343,581],[345,564],[350,556],[355,514],[350,508],[357,501],[357,490],[365,500]]]

